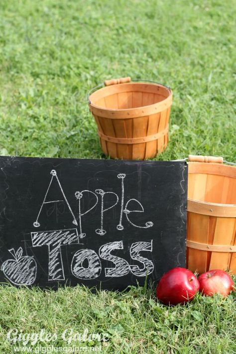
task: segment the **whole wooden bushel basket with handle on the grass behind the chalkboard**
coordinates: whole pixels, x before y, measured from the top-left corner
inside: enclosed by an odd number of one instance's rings
[[[104,153],[143,160],[162,152],[168,141],[171,90],[153,82],[130,82],[130,77],[104,84],[88,98]]]

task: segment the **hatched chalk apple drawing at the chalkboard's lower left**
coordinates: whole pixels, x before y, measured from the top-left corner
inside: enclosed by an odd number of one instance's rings
[[[14,248],[8,249],[14,259],[7,259],[1,265],[5,277],[14,285],[31,285],[37,274],[37,263],[33,256],[22,256],[22,247],[15,252]]]

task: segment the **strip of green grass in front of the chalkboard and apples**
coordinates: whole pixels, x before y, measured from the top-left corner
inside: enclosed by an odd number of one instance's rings
[[[99,346],[96,340],[68,344],[62,338],[65,330],[69,338],[88,329],[88,334],[107,339],[101,343],[102,353],[236,353],[236,293],[225,299],[199,294],[186,306],[168,307],[155,301],[152,289],[138,287],[125,293],[92,294],[80,286],[57,292],[9,286],[0,289],[0,314],[1,353],[13,353],[6,339],[12,328],[18,334],[42,329],[56,333],[56,341],[38,341],[32,348]],[[19,345],[22,342],[16,343]]]

